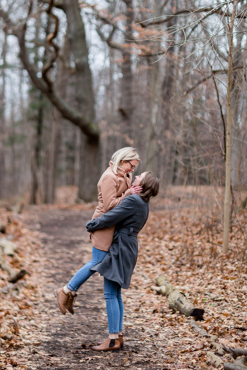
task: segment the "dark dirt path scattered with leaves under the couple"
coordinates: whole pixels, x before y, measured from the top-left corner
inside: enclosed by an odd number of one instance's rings
[[[169,335],[166,339],[158,337],[155,323],[148,317],[145,320],[145,312],[135,312],[140,298],[136,284],[123,290],[125,342],[124,349],[118,353],[90,349],[107,337],[103,277],[98,273],[79,290],[74,315],[67,312],[64,316],[56,306],[53,290],[68,282],[77,269],[91,259],[92,246],[85,223],[91,218],[93,209],[49,210],[37,206],[31,207],[31,212],[35,216],[27,227],[39,229],[43,245],[38,305],[41,325],[37,332],[37,337],[43,339],[40,345],[33,347],[33,366],[42,370],[95,370],[122,366],[133,370],[166,369],[166,354],[162,347],[167,347]],[[138,323],[144,321],[145,326]]]

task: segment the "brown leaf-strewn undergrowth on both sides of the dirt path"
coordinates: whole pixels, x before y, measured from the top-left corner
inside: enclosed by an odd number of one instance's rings
[[[71,188],[60,189],[59,194],[57,205],[40,207],[52,212],[56,207],[83,211],[92,206],[73,202],[75,188],[72,192]],[[148,222],[139,236],[137,266],[130,289],[124,291],[124,303],[130,312],[128,327],[141,326],[146,334],[143,340],[164,340],[164,353],[156,360],[157,366],[214,368],[207,358],[211,351],[207,339],[192,332],[186,317],[171,312],[165,297],[151,292],[151,284],[161,273],[195,306],[205,309],[205,321],[201,323],[205,330],[216,334],[219,342],[246,347],[245,331],[238,328],[245,327],[247,320],[247,211],[234,214],[228,255],[221,252],[221,214],[221,189],[200,187],[195,195],[192,187],[174,187],[162,198],[151,201]],[[19,215],[0,208],[0,223],[7,224],[7,235],[13,234],[19,247],[14,258],[7,260],[14,268],[25,268],[29,273],[13,287],[7,282],[7,273],[0,270],[0,369],[31,369],[27,349],[45,337],[41,328],[46,325],[46,312],[36,307],[44,256],[39,248],[39,231],[25,226],[33,218],[30,209]]]

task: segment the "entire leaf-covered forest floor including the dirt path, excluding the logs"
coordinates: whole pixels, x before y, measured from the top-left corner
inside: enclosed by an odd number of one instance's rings
[[[72,190],[61,189],[56,205],[26,206],[20,215],[0,208],[0,223],[19,247],[6,259],[28,271],[12,285],[0,270],[0,369],[214,369],[210,340],[150,290],[161,273],[205,309],[198,325],[216,334],[219,343],[246,347],[247,333],[240,328],[247,320],[247,212],[233,214],[230,250],[223,255],[222,195],[220,189],[201,187],[197,194],[173,188],[151,201],[131,286],[123,290],[124,350],[91,351],[107,337],[103,278],[95,274],[81,287],[74,316],[63,316],[53,296],[53,289],[90,259],[84,225],[95,204],[74,204]],[[225,354],[222,363],[230,358]]]

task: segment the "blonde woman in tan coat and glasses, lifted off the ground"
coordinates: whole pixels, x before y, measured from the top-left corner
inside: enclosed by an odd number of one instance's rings
[[[141,186],[135,184],[131,186],[132,172],[140,163],[136,149],[132,147],[122,148],[116,151],[111,157],[109,167],[103,173],[98,183],[99,205],[97,206],[93,218],[95,219],[116,207],[127,195],[139,194]],[[99,263],[107,255],[113,242],[115,226],[94,231],[91,234],[93,244],[92,259],[86,263],[72,277],[63,288],[55,289],[54,295],[57,299],[57,306],[61,313],[66,314],[66,309],[74,314],[73,302],[76,298],[77,290],[95,271],[91,271],[96,263]]]

